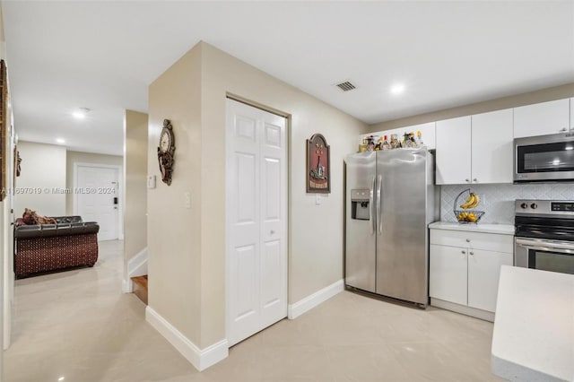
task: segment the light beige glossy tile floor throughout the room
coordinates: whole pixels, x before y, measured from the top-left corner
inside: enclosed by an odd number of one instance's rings
[[[199,373],[121,292],[122,242],[93,268],[16,282],[5,382],[495,381],[492,324],[344,291]]]

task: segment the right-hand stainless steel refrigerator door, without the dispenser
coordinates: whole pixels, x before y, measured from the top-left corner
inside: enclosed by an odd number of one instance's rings
[[[377,293],[428,303],[426,149],[378,152]]]

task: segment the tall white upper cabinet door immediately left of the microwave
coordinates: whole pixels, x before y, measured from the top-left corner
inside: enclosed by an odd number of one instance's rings
[[[512,109],[472,116],[472,183],[512,183]]]

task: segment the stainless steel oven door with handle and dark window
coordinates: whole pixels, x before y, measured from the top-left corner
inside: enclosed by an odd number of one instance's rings
[[[574,242],[516,238],[514,265],[574,274]]]

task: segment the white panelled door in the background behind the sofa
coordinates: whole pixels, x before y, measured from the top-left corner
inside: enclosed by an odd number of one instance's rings
[[[99,240],[117,239],[117,169],[78,165],[76,214],[100,224]]]

